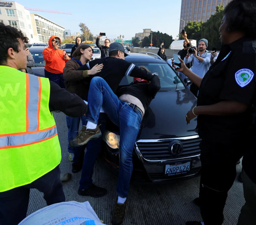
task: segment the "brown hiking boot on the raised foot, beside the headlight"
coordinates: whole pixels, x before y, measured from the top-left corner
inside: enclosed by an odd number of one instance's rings
[[[82,127],[82,130],[79,132],[79,134],[73,140],[69,141],[69,145],[71,147],[82,146],[82,145],[85,145],[89,140],[97,139],[100,136],[101,136],[101,131],[98,125],[95,129],[87,129],[87,130],[86,130],[86,126],[84,125]]]

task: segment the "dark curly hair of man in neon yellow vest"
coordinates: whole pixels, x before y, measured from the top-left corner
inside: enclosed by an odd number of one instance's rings
[[[0,65],[7,63],[9,48],[17,53],[19,52],[20,43],[18,39],[23,40],[26,44],[28,43],[28,38],[23,35],[21,30],[0,23]]]

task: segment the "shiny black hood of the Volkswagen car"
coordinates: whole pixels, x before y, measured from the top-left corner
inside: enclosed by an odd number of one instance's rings
[[[197,118],[187,124],[185,117],[197,99],[188,88],[158,91],[141,122],[138,139],[162,139],[197,135]]]

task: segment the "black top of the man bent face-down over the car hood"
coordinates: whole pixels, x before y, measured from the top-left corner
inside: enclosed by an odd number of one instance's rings
[[[141,101],[146,112],[147,107],[155,98],[156,93],[158,90],[160,90],[160,88],[160,79],[157,75],[154,75],[149,84],[138,83],[120,88],[117,91],[117,96],[120,97],[121,95],[129,94],[137,97]]]

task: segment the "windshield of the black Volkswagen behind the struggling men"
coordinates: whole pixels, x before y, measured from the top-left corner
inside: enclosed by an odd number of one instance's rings
[[[137,66],[145,66],[151,73],[157,73],[161,82],[161,91],[183,90],[185,86],[177,74],[167,63],[134,63]],[[131,84],[131,83],[130,83]]]

